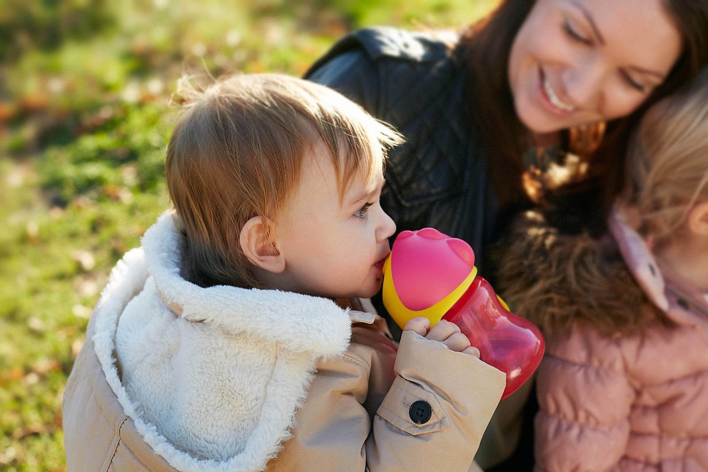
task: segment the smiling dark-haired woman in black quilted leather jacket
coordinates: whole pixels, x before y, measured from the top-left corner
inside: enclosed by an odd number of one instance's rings
[[[602,234],[634,125],[707,62],[707,0],[503,0],[462,34],[356,31],[306,77],[404,134],[381,197],[398,231],[464,239],[489,274],[486,248],[534,203]],[[524,394],[501,403],[484,468],[518,444]]]

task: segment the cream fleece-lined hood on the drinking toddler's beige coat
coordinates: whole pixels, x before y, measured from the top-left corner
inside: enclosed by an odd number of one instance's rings
[[[181,234],[161,215],[110,275],[96,355],[137,432],[183,471],[259,471],[290,436],[318,359],[345,352],[348,310],[275,290],[180,276]]]

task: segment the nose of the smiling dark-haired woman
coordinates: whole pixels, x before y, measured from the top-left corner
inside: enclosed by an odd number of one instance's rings
[[[566,69],[563,82],[570,104],[583,110],[600,110],[605,75],[602,62],[594,58]]]

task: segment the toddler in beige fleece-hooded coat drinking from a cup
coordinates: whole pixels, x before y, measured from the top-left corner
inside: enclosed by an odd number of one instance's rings
[[[184,94],[174,209],[110,275],[64,394],[70,470],[467,471],[506,376],[367,297],[396,132],[274,74]]]

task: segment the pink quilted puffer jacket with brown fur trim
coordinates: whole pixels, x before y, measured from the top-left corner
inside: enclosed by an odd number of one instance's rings
[[[600,267],[619,267],[624,279],[609,273],[605,275],[615,277],[611,282],[585,277],[565,288],[549,289],[555,290],[550,297],[539,297],[547,287],[568,282],[563,277],[568,277],[564,270],[569,262],[561,260],[561,255],[589,266],[588,254],[597,257],[606,253],[573,246],[575,243],[564,238],[582,236],[560,236],[548,226],[527,226],[523,233],[517,229],[517,237],[523,234],[530,240],[525,243],[527,260],[501,274],[509,277],[516,271],[518,277],[527,279],[526,287],[512,287],[511,296],[502,292],[504,297],[517,299],[520,305],[534,304],[527,311],[533,313],[530,318],[537,317],[533,321],[542,329],[551,322],[563,328],[553,331],[560,334],[547,334],[546,356],[537,373],[536,469],[708,471],[708,301],[705,294],[656,260],[619,214],[612,215],[610,229],[614,241],[605,238],[603,245],[613,248],[616,260],[614,265]],[[522,252],[519,243],[513,245],[518,258]],[[543,261],[544,256],[555,260]],[[510,257],[514,257],[513,251]],[[545,264],[546,273],[532,268],[534,264]],[[523,270],[536,273],[523,275]],[[582,291],[567,293],[572,292],[568,287],[578,285]],[[614,291],[608,289],[613,285]],[[608,338],[598,329],[602,321],[593,325],[593,316],[598,320],[602,316],[591,313],[587,306],[578,309],[582,304],[596,304],[607,316],[612,310],[606,308],[632,299],[627,295],[632,290],[635,304],[629,308],[634,313],[654,310],[665,319],[654,319],[638,332]],[[586,300],[594,297],[594,301],[578,301],[583,299],[582,292],[589,294]],[[612,297],[615,301],[609,300]],[[561,314],[566,317],[564,323],[544,318],[549,316],[543,314],[544,309],[546,313],[565,309]],[[616,312],[623,316],[621,310]]]

